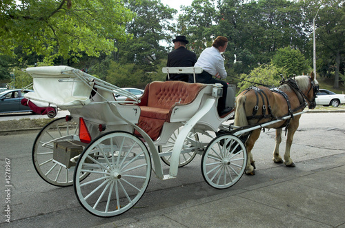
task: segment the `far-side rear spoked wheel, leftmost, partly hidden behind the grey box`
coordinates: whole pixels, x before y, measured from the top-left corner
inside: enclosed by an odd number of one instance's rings
[[[52,161],[54,141],[70,141],[73,135],[78,135],[78,123],[68,121],[63,118],[57,118],[48,123],[41,129],[36,136],[32,147],[32,162],[34,169],[43,180],[50,185],[70,186],[73,185],[73,169],[65,167]],[[87,174],[81,176],[86,178]]]

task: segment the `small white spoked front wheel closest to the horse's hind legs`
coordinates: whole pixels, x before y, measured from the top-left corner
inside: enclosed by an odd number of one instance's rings
[[[226,189],[237,183],[246,169],[244,143],[232,134],[214,138],[201,158],[201,172],[208,185]]]

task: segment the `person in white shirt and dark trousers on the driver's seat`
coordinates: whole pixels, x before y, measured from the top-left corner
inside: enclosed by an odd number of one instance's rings
[[[226,76],[228,75],[224,68],[223,56],[221,56],[221,52],[225,52],[227,46],[228,39],[226,37],[217,37],[213,42],[212,47],[206,48],[201,52],[199,59],[197,59],[197,63],[195,63],[195,67],[201,67],[203,69],[203,72],[198,74],[196,77],[197,83],[221,83],[221,85],[223,85],[223,96],[219,98],[217,107],[219,116],[224,116],[224,114],[227,114],[231,110],[230,107],[226,107],[228,83],[218,80],[226,79]],[[213,76],[217,79],[213,78]],[[193,77],[189,78],[189,82],[194,82]]]

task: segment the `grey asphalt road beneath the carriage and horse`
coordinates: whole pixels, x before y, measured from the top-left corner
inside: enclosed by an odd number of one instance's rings
[[[334,165],[341,161],[344,163],[344,134],[345,113],[303,114],[299,129],[295,134],[291,152],[291,157],[297,165],[294,169],[287,169],[284,165],[277,165],[271,161],[275,132],[273,129],[266,130],[266,132],[261,134],[253,150],[253,156],[257,165],[256,176],[243,176],[239,180],[239,183],[230,187],[230,189],[213,189],[204,182],[201,176],[201,157],[197,156],[190,165],[179,169],[179,175],[175,179],[157,180],[152,174],[149,187],[135,208],[114,218],[98,218],[88,214],[77,202],[72,187],[55,187],[41,180],[36,174],[31,161],[31,147],[37,132],[2,135],[0,136],[0,160],[1,165],[5,167],[6,158],[10,159],[10,184],[12,187],[10,191],[11,223],[8,224],[6,222],[6,212],[3,212],[0,226],[92,227],[103,224],[108,227],[113,227],[114,225],[128,225],[130,227],[132,222],[136,222],[133,218],[137,220],[139,218],[148,219],[147,215],[149,214],[162,214],[161,211],[166,212],[167,210],[176,210],[177,208],[182,210],[188,207],[188,205],[193,205],[195,202],[201,202],[202,205],[202,200],[207,201],[210,198],[217,198],[221,202],[221,198],[229,194],[236,195],[239,192],[243,193],[247,189],[254,188],[257,185],[268,185],[268,183],[279,180],[279,178],[298,176],[302,174],[300,172],[305,172],[305,170],[316,170],[322,168],[324,165]],[[284,146],[285,143],[282,143],[281,151],[284,151]],[[336,158],[337,162],[332,161],[331,158]],[[5,172],[4,168],[2,172]],[[168,172],[166,165],[164,165],[164,172]],[[326,178],[330,177],[328,176]],[[1,208],[5,208],[8,205],[5,203],[8,194],[4,191],[6,190],[5,180],[3,179],[2,181],[3,190],[0,191],[0,198],[2,199]],[[291,186],[298,187],[297,181]],[[344,186],[342,189],[344,189]],[[294,191],[293,187],[291,190]],[[311,202],[319,198],[317,194],[311,195],[310,197]],[[276,199],[279,199],[279,197]],[[279,204],[279,200],[277,204]],[[242,205],[236,202],[235,205],[238,210],[242,209]],[[262,205],[267,207],[264,202]],[[338,211],[334,211],[337,214],[330,215],[334,219],[337,219],[335,220],[335,225],[337,225],[342,221],[341,218],[344,218],[344,202],[340,204],[339,202],[335,202],[335,205],[337,207],[338,205],[343,205]],[[243,207],[245,206],[243,205]],[[232,213],[236,214],[235,211]],[[212,214],[212,217],[208,218],[210,214]],[[177,212],[176,215],[179,215],[181,218],[185,217],[184,214],[178,214]],[[217,214],[210,211],[202,217],[206,218],[206,220],[215,220],[216,218],[214,216],[217,216]],[[252,216],[255,215],[252,214]],[[172,217],[174,216],[172,215]],[[260,220],[260,218],[257,219]],[[176,216],[175,220],[178,220]],[[315,214],[315,220],[317,220],[317,214]],[[109,222],[112,222],[110,223],[111,225],[109,225]],[[218,222],[221,221],[218,220]],[[175,227],[185,227],[181,223],[180,225],[174,225]],[[149,227],[149,225],[145,224],[145,222],[138,223],[137,227]],[[291,225],[291,223],[288,224]],[[301,226],[303,224],[300,223]],[[172,225],[166,226],[172,227]],[[198,226],[197,223],[195,225],[192,223],[187,225],[187,227]],[[299,226],[297,225],[297,227]]]

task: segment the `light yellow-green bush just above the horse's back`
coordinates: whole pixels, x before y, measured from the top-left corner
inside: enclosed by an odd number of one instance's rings
[[[279,81],[281,80],[280,75],[286,75],[286,71],[281,68],[277,68],[275,65],[270,63],[270,65],[261,65],[250,74],[241,74],[241,82],[237,83],[239,92],[242,92],[250,86],[261,86],[255,83],[267,85],[269,87],[278,87]]]

